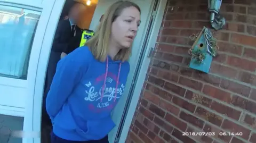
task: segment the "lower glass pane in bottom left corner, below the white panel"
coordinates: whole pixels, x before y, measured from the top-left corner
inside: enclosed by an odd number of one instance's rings
[[[23,117],[0,114],[0,142],[22,143],[22,138],[11,137],[11,132],[23,130]]]

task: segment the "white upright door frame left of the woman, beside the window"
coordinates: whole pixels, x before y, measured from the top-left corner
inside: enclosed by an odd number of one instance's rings
[[[66,0],[44,0],[30,55],[25,132],[41,132],[42,99],[47,64],[59,17]],[[40,28],[40,29],[39,29]],[[40,143],[40,138],[23,138],[23,143]]]

